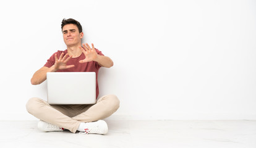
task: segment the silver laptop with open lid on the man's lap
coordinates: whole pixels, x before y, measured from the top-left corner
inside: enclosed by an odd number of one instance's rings
[[[48,72],[49,104],[95,104],[95,72]]]

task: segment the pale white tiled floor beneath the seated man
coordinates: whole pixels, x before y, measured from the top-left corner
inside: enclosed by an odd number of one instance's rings
[[[106,135],[42,132],[37,121],[0,121],[0,147],[255,148],[256,121],[106,120]]]

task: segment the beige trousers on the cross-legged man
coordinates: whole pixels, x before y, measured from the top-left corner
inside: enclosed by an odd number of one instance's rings
[[[26,107],[36,118],[75,133],[81,122],[97,121],[116,112],[119,99],[111,94],[100,97],[96,104],[49,105],[48,102],[33,97],[28,100]]]

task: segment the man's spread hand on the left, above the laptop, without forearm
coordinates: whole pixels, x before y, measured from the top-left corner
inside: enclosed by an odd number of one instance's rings
[[[75,67],[75,65],[67,65],[67,61],[71,59],[72,55],[67,57],[69,54],[64,55],[62,52],[61,56],[59,56],[59,59],[57,57],[57,54],[55,54],[55,64],[54,64],[54,69],[55,70],[63,70],[71,67]]]

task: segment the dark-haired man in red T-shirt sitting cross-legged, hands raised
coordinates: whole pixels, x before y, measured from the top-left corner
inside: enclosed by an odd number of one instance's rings
[[[95,72],[96,97],[98,97],[98,70],[100,67],[112,67],[113,61],[89,44],[81,44],[82,26],[77,20],[63,19],[61,24],[63,39],[67,45],[65,51],[55,52],[46,64],[35,72],[32,84],[41,84],[46,80],[47,72]],[[100,97],[96,104],[49,105],[48,102],[33,97],[27,102],[27,111],[39,118],[38,128],[43,131],[63,131],[75,133],[106,134],[108,125],[103,118],[109,117],[119,108],[116,96]]]

